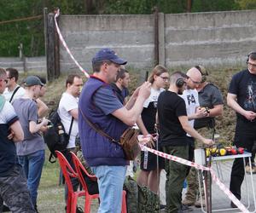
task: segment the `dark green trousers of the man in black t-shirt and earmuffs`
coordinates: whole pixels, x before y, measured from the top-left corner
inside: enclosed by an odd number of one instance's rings
[[[166,146],[164,153],[172,154],[179,158],[189,158],[189,146]],[[183,182],[185,181],[188,167],[172,160],[166,160],[166,210],[168,213],[177,213],[181,208]]]

